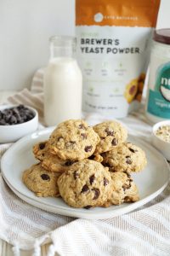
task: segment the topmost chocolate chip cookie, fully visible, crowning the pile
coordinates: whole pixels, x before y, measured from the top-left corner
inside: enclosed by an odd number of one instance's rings
[[[94,154],[99,136],[81,120],[67,120],[58,125],[49,138],[52,154],[63,160],[83,160]]]

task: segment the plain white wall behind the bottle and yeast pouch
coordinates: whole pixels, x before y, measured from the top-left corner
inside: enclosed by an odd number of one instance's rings
[[[74,2],[0,0],[0,90],[29,87],[48,62],[48,38],[74,35]],[[170,27],[169,10],[170,0],[161,0],[157,27]]]

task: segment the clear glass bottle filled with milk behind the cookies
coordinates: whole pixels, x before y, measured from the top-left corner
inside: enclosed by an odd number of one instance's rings
[[[44,119],[48,126],[82,115],[82,73],[74,57],[76,38],[54,36],[44,73]]]

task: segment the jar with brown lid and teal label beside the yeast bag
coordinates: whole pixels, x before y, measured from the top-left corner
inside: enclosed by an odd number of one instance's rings
[[[153,123],[170,119],[170,28],[158,29],[154,33],[146,116]]]

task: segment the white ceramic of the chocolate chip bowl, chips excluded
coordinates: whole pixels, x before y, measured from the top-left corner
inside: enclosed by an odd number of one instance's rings
[[[16,106],[18,105],[1,105],[0,110],[2,111],[6,108],[14,108]],[[33,119],[18,125],[0,125],[0,143],[14,143],[21,137],[24,137],[27,134],[37,130],[37,110],[26,105],[25,107],[29,108],[35,114]]]

